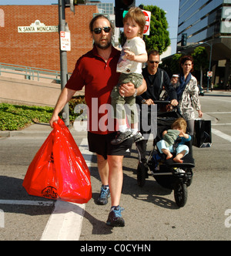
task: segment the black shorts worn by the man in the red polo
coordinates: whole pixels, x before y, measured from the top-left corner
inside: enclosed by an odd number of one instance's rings
[[[106,135],[88,133],[89,151],[97,153],[104,157],[107,156],[126,156],[131,153],[132,143],[134,139],[125,140],[119,145],[112,145],[111,141],[115,139],[117,133],[109,133]]]

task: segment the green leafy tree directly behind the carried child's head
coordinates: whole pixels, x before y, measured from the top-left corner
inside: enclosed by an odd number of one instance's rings
[[[169,24],[166,19],[166,12],[155,5],[144,6],[146,11],[152,12],[150,35],[145,35],[146,49],[159,50],[160,54],[165,52],[171,44],[169,39]]]

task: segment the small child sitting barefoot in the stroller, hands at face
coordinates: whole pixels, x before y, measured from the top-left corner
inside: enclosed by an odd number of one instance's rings
[[[186,120],[179,118],[172,123],[172,130],[165,130],[162,133],[163,140],[156,143],[156,146],[160,153],[166,154],[166,160],[173,157],[172,153],[174,153],[174,143],[178,138],[181,138],[178,147],[176,147],[176,157],[173,158],[173,161],[176,163],[183,163],[182,158],[189,153],[189,147],[186,146],[185,143],[192,139],[189,134],[186,134],[186,128]]]

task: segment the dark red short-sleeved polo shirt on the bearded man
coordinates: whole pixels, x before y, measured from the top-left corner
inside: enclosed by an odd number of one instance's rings
[[[81,90],[85,86],[85,101],[89,107],[89,131],[97,134],[108,134],[115,131],[111,108],[111,92],[119,81],[116,72],[119,50],[112,47],[108,62],[99,56],[96,47],[79,58],[75,70],[66,84],[66,88]]]

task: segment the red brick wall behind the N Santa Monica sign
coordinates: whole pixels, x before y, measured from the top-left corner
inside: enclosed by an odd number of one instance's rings
[[[5,25],[0,26],[0,62],[60,70],[59,33],[18,33],[18,26],[29,26],[39,20],[45,25],[59,25],[58,5],[0,5],[5,14]],[[65,19],[71,31],[72,51],[68,52],[68,69],[92,49],[89,22],[96,6],[75,6],[75,15],[65,8]]]

